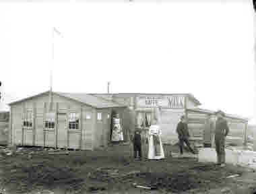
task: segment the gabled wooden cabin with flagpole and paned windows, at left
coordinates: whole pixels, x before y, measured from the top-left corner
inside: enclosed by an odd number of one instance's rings
[[[9,106],[9,145],[81,150],[107,146],[111,112],[122,119],[126,108],[88,94],[50,91]]]

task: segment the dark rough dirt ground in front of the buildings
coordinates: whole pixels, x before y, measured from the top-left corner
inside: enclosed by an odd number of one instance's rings
[[[42,148],[13,148],[11,151],[2,148],[1,186],[5,193],[31,194],[50,191],[241,193],[242,190],[242,193],[252,194],[256,188],[256,173],[245,168],[232,165],[220,168],[215,164],[199,163],[196,158],[171,156],[164,160],[139,161],[130,156],[128,148],[123,148],[69,151],[69,154],[63,150]],[[177,151],[177,148],[172,150]],[[226,178],[233,174],[239,176]],[[151,187],[152,190],[136,188],[134,184]]]

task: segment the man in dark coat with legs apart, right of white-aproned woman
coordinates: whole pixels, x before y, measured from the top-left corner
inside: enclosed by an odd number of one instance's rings
[[[195,151],[191,148],[189,143],[189,130],[187,128],[187,123],[185,121],[184,116],[181,117],[181,121],[178,123],[176,131],[179,136],[179,146],[180,146],[181,155],[183,154],[184,142],[189,148],[189,151],[195,154]]]

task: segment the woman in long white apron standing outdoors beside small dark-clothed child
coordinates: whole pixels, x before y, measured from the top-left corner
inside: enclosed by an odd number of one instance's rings
[[[159,160],[164,158],[164,149],[160,135],[162,134],[158,119],[152,119],[152,125],[148,130],[148,159]]]

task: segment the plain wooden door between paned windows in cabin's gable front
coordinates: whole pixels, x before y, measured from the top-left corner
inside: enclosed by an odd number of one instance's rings
[[[57,115],[57,147],[67,148],[67,114]]]

